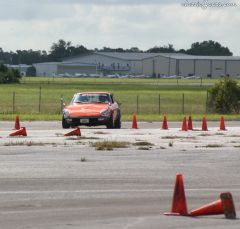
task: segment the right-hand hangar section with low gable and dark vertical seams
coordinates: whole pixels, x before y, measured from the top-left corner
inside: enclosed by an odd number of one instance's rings
[[[161,54],[143,60],[143,74],[157,76],[199,76],[217,78],[240,76],[240,57]]]

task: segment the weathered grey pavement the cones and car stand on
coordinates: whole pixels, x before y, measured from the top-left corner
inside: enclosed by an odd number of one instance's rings
[[[223,215],[170,217],[176,173],[184,177],[188,209],[233,194],[240,209],[240,123],[209,123],[203,132],[181,123],[141,123],[142,129],[82,128],[64,137],[58,122],[25,122],[27,137],[8,137],[0,122],[0,228],[239,228]],[[96,150],[91,142],[127,141],[127,148]],[[134,145],[149,142],[151,146]],[[170,144],[171,143],[171,144]],[[83,158],[85,161],[83,161]]]

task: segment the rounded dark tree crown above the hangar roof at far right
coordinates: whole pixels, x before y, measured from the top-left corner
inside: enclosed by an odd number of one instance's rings
[[[228,47],[223,47],[218,42],[212,40],[201,43],[195,42],[186,53],[200,56],[232,56],[232,52],[230,52]]]

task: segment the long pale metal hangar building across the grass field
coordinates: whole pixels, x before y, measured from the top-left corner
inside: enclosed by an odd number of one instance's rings
[[[193,56],[182,53],[95,52],[66,58],[62,62],[34,64],[37,76],[54,75],[144,75],[240,76],[240,57]]]

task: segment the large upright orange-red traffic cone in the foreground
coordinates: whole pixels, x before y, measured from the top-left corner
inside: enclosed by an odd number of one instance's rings
[[[181,174],[176,175],[176,183],[173,194],[172,210],[164,215],[182,215],[188,216],[187,202],[184,192],[183,177]]]

